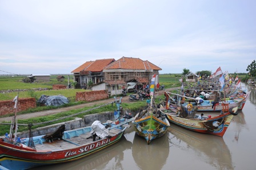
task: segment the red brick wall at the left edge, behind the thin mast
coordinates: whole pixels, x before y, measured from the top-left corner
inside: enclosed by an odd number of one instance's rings
[[[16,108],[14,108],[14,104],[15,103],[13,102],[13,100],[0,101],[0,115],[15,113]],[[37,102],[35,102],[35,98],[19,99],[17,112],[35,107],[37,107]]]

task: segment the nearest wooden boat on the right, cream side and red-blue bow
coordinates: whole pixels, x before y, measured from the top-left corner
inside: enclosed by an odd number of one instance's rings
[[[166,107],[159,108],[159,111],[165,114],[170,123],[177,124],[191,131],[221,137],[225,134],[233,116],[238,114],[238,107],[229,108],[227,103],[222,104],[221,114],[213,114],[209,117],[202,116],[201,119],[198,119],[199,115],[196,114],[197,108],[195,108],[191,115],[187,115],[187,111],[183,107],[177,107],[174,111],[169,109],[169,106],[169,104],[166,104]]]

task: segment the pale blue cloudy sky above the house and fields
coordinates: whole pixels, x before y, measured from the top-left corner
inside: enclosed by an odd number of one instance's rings
[[[71,74],[90,60],[148,60],[160,74],[247,72],[255,0],[0,0],[0,74]]]

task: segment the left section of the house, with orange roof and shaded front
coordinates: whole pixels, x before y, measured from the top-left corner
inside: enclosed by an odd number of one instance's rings
[[[113,63],[115,59],[98,59],[83,63],[81,66],[71,71],[74,74],[74,82],[85,86],[90,80],[96,84],[102,82],[104,79],[103,68]]]

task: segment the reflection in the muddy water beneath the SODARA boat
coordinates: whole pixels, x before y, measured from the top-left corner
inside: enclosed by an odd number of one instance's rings
[[[127,141],[123,136],[118,143],[103,149],[93,155],[85,157],[85,159],[79,159],[72,163],[65,163],[60,165],[47,165],[43,167],[35,168],[39,169],[65,169],[65,170],[85,170],[85,169],[104,169],[107,167],[110,161],[115,164],[115,169],[123,169],[121,161],[123,160],[124,151],[131,149],[131,141]]]

